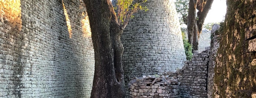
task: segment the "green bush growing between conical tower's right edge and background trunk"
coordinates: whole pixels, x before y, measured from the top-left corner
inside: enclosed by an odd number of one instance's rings
[[[186,54],[186,59],[187,60],[191,60],[192,59],[192,45],[189,44],[188,39],[186,39],[186,35],[185,32],[182,31],[182,39],[183,39],[183,45],[184,45],[184,49],[185,49],[185,54]]]

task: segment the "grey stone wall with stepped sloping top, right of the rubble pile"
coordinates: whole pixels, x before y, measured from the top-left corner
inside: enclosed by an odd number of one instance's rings
[[[182,98],[207,98],[208,63],[209,47],[201,53],[194,53],[192,60],[177,72]]]

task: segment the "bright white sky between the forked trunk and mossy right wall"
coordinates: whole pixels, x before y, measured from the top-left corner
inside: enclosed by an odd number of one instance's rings
[[[211,10],[209,10],[204,20],[204,24],[211,22],[221,22],[222,20],[224,20],[226,9],[226,0],[214,0]]]

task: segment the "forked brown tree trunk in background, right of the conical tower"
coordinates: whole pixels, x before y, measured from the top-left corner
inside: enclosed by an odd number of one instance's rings
[[[193,50],[199,49],[198,42],[200,34],[202,32],[204,19],[206,18],[209,10],[211,9],[213,1],[214,0],[189,0],[187,28],[189,43],[193,45]],[[199,10],[197,14],[196,9]]]

